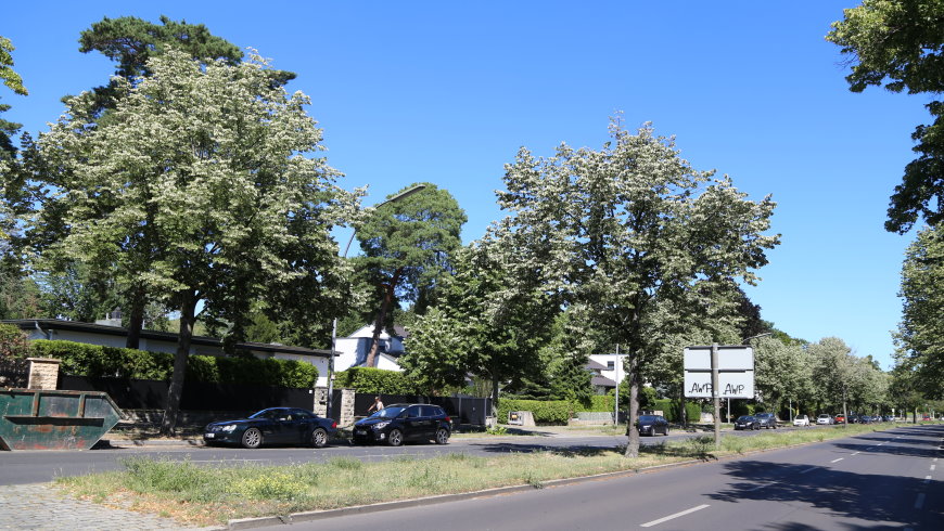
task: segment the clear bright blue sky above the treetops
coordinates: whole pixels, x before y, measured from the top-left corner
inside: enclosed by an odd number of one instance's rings
[[[3,116],[38,133],[60,98],[103,85],[78,52],[103,16],[205,24],[272,57],[311,96],[329,163],[366,204],[434,182],[469,215],[463,239],[501,216],[494,191],[522,145],[600,147],[609,116],[652,121],[698,169],[728,173],[779,206],[782,245],[756,288],[764,319],[816,341],[837,336],[891,365],[903,254],[884,231],[926,100],[847,90],[824,36],[852,1],[807,2],[13,2],[0,35],[29,89]],[[722,4],[722,5],[718,5]]]

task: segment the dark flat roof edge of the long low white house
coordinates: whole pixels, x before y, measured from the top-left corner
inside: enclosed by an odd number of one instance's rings
[[[64,321],[61,319],[12,319],[0,321],[3,324],[12,324],[22,331],[33,329],[58,329],[69,332],[85,332],[89,334],[101,334],[105,336],[127,337],[128,328],[122,326],[107,326],[103,324],[84,323],[80,321]],[[174,332],[160,331],[141,331],[141,337],[144,339],[154,339],[158,341],[177,342],[179,334]],[[200,345],[205,347],[222,348],[222,340],[215,337],[193,336],[190,340],[191,345]],[[319,358],[328,358],[331,355],[331,350],[308,349],[305,347],[291,347],[288,345],[277,345],[267,342],[242,341],[237,344],[237,349],[253,350],[256,352],[272,352],[297,355],[314,355]]]

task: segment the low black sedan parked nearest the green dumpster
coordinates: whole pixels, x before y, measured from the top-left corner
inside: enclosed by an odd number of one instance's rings
[[[270,407],[248,418],[224,420],[206,425],[206,444],[242,444],[259,448],[265,444],[307,444],[322,448],[337,430],[337,423],[298,407]]]

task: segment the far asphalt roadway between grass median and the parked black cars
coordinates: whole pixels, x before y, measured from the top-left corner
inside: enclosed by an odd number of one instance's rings
[[[782,429],[782,428],[781,428]],[[815,429],[815,428],[809,428]],[[725,432],[750,437],[762,431]],[[704,436],[705,433],[672,432],[667,439]],[[645,437],[643,444],[666,440],[665,437]],[[204,446],[144,446],[125,445],[116,449],[90,451],[16,451],[0,452],[0,484],[25,484],[51,481],[59,476],[81,476],[95,471],[123,468],[122,459],[132,456],[148,456],[171,461],[190,459],[191,463],[208,465],[240,465],[257,463],[263,465],[285,465],[292,463],[323,463],[334,457],[355,457],[365,462],[412,456],[433,457],[444,453],[467,453],[469,455],[492,455],[509,452],[534,452],[546,449],[612,449],[626,444],[625,436],[574,436],[574,437],[483,437],[467,439],[456,437],[444,446],[437,444],[406,444],[391,448],[350,446],[333,444],[323,449],[308,448],[261,448],[245,450],[239,448]]]

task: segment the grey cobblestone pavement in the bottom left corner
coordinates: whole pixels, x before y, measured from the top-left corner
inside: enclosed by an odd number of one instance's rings
[[[168,518],[76,500],[47,483],[0,485],[0,529],[170,530]]]

